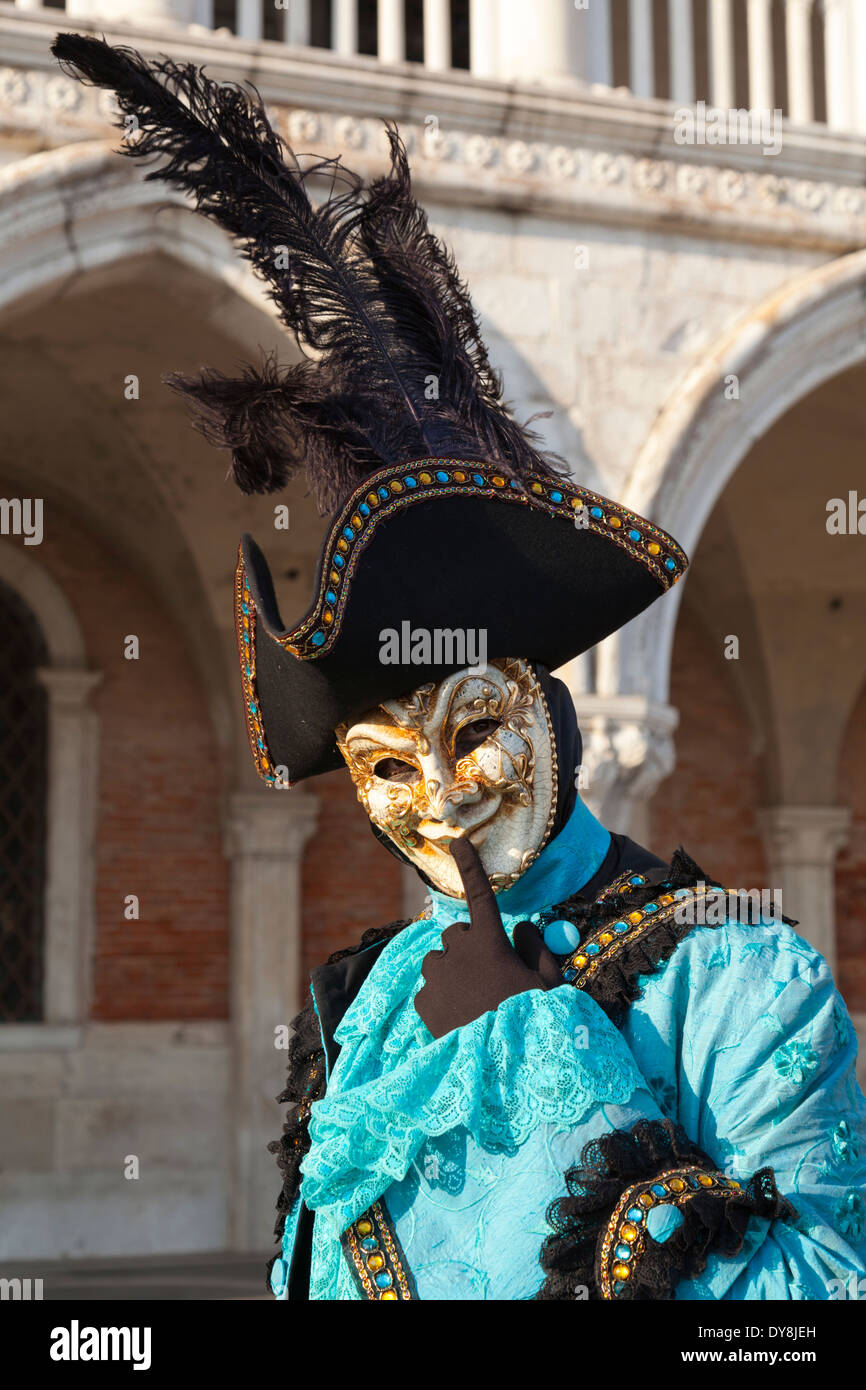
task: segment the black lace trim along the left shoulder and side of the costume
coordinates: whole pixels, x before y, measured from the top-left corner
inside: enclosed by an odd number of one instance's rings
[[[366,951],[367,947],[373,947],[378,941],[391,941],[407,924],[407,922],[391,922],[386,927],[371,927],[364,931],[356,947],[346,947],[329,955],[328,965],[336,965],[345,956],[357,955],[359,951]],[[292,1019],[292,1030],[286,1086],[277,1097],[278,1102],[288,1104],[289,1109],[282,1126],[282,1136],[268,1144],[268,1154],[275,1155],[277,1166],[282,1173],[282,1190],[277,1198],[277,1223],[274,1226],[274,1234],[281,1244],[286,1216],[295,1205],[300,1187],[300,1163],[310,1148],[310,1106],[325,1094],[325,1054],[311,999]],[[271,1289],[271,1269],[278,1258],[279,1250],[268,1261],[268,1291]]]

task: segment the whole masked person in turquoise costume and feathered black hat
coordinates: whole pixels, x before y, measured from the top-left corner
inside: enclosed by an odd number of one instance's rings
[[[167,156],[147,177],[239,239],[307,353],[172,379],[245,491],[303,460],[334,513],[291,627],[240,546],[256,766],[275,787],[348,766],[430,890],[313,972],[275,1294],[833,1297],[863,1273],[866,1148],[827,966],[785,922],[702,920],[713,884],[683,851],[599,824],[550,676],[685,556],[507,414],[395,129],[364,186],[302,171],[253,96],[192,67],[75,35],[54,51],[117,92],[125,153]]]

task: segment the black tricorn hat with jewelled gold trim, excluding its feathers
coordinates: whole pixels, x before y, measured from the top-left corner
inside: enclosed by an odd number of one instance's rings
[[[238,649],[259,773],[292,785],[342,767],[339,724],[484,652],[562,666],[685,566],[664,531],[548,474],[517,482],[464,459],[382,468],[335,516],[295,627],[261,550],[240,543]]]

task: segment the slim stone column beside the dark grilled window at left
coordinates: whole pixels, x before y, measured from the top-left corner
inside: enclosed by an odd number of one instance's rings
[[[43,667],[36,678],[49,701],[43,1017],[81,1023],[93,935],[97,719],[89,705],[101,674]]]

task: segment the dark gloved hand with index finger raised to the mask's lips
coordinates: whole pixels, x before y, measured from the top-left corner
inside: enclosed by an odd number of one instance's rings
[[[457,865],[468,922],[453,922],[442,933],[442,949],[421,962],[424,986],[416,1009],[435,1038],[459,1029],[503,999],[527,990],[553,990],[563,983],[555,956],[538,927],[518,922],[514,945],[507,938],[484,866],[468,840],[450,847]]]

